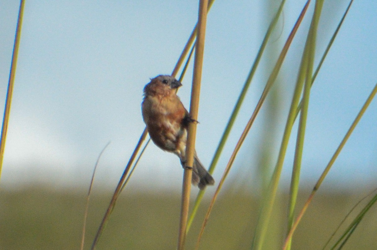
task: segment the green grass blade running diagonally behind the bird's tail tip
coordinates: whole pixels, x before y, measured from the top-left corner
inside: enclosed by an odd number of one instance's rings
[[[271,33],[272,33],[272,31],[273,31],[276,23],[277,23],[277,20],[279,20],[279,16],[280,16],[280,13],[281,13],[282,8],[284,6],[284,3],[285,3],[285,0],[283,0],[280,3],[279,9],[277,10],[277,12],[276,12],[273,20],[271,21],[270,25],[268,26],[267,32],[265,34],[265,37],[263,38],[261,47],[259,48],[258,54],[257,54],[257,56],[256,56],[256,58],[254,60],[253,66],[251,66],[249,75],[248,75],[248,77],[247,77],[247,79],[245,81],[244,86],[242,87],[241,94],[239,95],[238,100],[236,102],[236,105],[234,106],[234,109],[233,109],[233,111],[232,111],[232,113],[230,115],[230,118],[228,120],[227,126],[225,126],[224,133],[222,134],[222,137],[220,139],[219,145],[218,145],[218,147],[217,147],[217,149],[215,151],[215,155],[212,158],[212,161],[211,161],[211,164],[210,164],[210,168],[208,169],[208,172],[211,173],[211,174],[215,170],[216,164],[217,164],[217,162],[218,162],[218,160],[220,158],[222,150],[224,149],[225,143],[226,143],[226,141],[228,139],[228,135],[230,133],[230,130],[233,127],[234,121],[236,120],[236,117],[238,115],[238,111],[241,108],[241,104],[244,101],[244,98],[245,98],[247,90],[248,90],[248,88],[250,86],[251,80],[253,79],[254,73],[255,73],[255,71],[257,69],[259,61],[261,60],[262,54],[263,54],[264,49],[265,49],[265,47],[267,45],[268,39],[270,38],[270,35],[271,35]],[[200,190],[199,193],[198,193],[198,195],[196,196],[195,204],[194,204],[193,210],[191,212],[189,221],[187,223],[187,232],[189,231],[189,229],[191,227],[191,224],[192,224],[192,222],[193,222],[193,220],[195,218],[196,212],[198,211],[198,208],[200,206],[201,200],[202,200],[202,198],[204,196],[204,192],[205,192],[205,190]]]

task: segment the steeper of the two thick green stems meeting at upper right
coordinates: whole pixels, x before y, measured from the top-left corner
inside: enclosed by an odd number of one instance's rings
[[[305,50],[307,51],[304,51],[304,53],[307,53],[307,57],[305,57],[305,59],[307,60],[307,63],[305,63],[306,67],[303,67],[302,70],[300,70],[299,72],[299,74],[302,74],[303,77],[305,77],[305,84],[304,84],[303,97],[302,97],[302,101],[303,101],[302,110],[300,113],[299,127],[297,130],[296,149],[294,152],[294,160],[293,160],[292,178],[291,178],[291,186],[290,186],[290,198],[289,198],[289,203],[288,203],[287,232],[290,231],[291,226],[294,222],[294,209],[296,207],[297,194],[299,191],[302,151],[303,151],[306,121],[307,121],[307,115],[308,115],[310,88],[312,84],[314,54],[316,50],[317,27],[318,27],[320,13],[322,10],[322,5],[323,5],[323,1],[316,1],[313,21],[311,23],[311,27],[308,34],[308,40],[307,40],[308,46],[305,48]],[[298,77],[297,79],[300,80],[302,79],[302,77]],[[288,242],[288,246],[287,246],[287,249],[290,249],[290,248],[291,248],[291,241]]]

